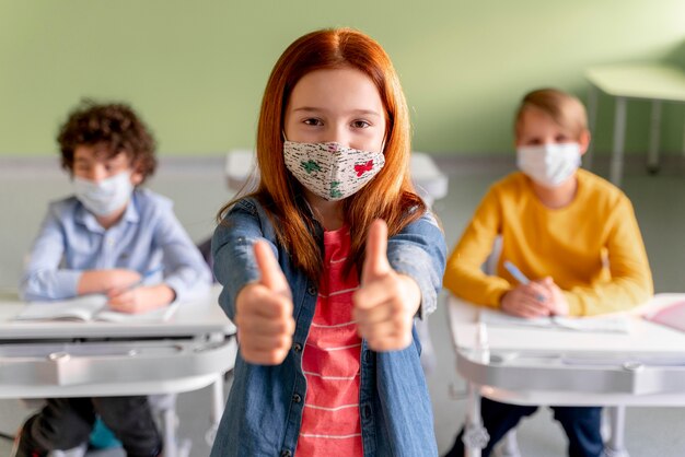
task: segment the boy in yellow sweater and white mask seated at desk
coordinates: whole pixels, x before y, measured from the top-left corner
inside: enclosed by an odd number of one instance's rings
[[[492,185],[452,253],[444,285],[469,302],[520,317],[590,316],[630,308],[652,294],[647,253],[632,206],[608,181],[579,169],[590,144],[580,101],[544,89],[523,98],[515,118],[516,164]],[[501,237],[497,276],[481,266]],[[503,262],[531,279],[519,283]],[[570,456],[600,456],[601,408],[553,407]],[[490,442],[483,457],[535,407],[483,399]],[[448,457],[464,453],[462,433]]]

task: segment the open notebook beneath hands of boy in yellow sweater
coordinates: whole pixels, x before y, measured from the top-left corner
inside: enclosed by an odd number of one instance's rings
[[[630,318],[623,314],[613,314],[596,317],[536,317],[532,319],[511,316],[509,314],[480,308],[479,320],[489,326],[495,327],[537,327],[537,328],[558,328],[576,331],[597,331],[597,332],[618,332],[627,333],[629,331]]]

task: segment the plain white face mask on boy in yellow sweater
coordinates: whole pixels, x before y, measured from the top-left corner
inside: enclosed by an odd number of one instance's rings
[[[542,186],[557,187],[580,167],[580,155],[578,143],[519,147],[516,165]]]

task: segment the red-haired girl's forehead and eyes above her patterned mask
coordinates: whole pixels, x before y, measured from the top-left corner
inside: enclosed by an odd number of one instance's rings
[[[336,142],[371,152],[383,149],[383,102],[373,81],[352,68],[302,77],[290,95],[285,122],[289,141]]]

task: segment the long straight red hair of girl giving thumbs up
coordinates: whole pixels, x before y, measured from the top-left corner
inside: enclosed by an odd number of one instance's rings
[[[285,113],[293,87],[305,74],[323,69],[355,68],[375,84],[385,108],[385,166],[361,190],[344,200],[345,221],[350,227],[349,272],[361,271],[367,232],[381,218],[388,235],[426,211],[409,176],[410,126],[407,102],[387,54],[379,43],[351,28],[327,28],[306,34],[280,56],[266,85],[257,127],[257,165],[260,180],[251,196],[269,214],[278,242],[293,263],[311,279],[318,280],[322,267],[320,241],[312,235],[314,221],[306,208],[298,180],[283,161]],[[227,203],[219,216],[233,202]]]

